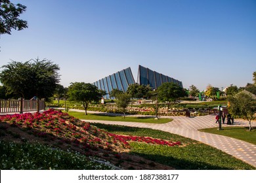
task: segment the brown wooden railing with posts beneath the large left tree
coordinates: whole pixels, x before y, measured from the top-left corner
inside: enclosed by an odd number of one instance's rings
[[[0,114],[7,112],[31,112],[45,110],[45,99],[37,100],[24,100],[20,98],[18,100],[1,100],[0,99]]]

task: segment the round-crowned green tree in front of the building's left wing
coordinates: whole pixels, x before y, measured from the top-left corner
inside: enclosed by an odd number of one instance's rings
[[[71,83],[71,85],[68,87],[68,95],[70,97],[70,101],[78,101],[83,103],[85,115],[87,115],[89,103],[99,101],[102,97],[96,86],[85,82]]]

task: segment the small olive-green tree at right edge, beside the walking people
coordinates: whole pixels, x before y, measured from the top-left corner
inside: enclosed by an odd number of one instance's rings
[[[236,95],[229,95],[228,103],[228,111],[234,116],[246,119],[249,122],[249,131],[251,131],[251,120],[256,117],[256,96],[244,90]]]

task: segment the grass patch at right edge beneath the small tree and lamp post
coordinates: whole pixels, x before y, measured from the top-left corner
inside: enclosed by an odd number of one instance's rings
[[[214,128],[200,129],[200,131],[207,133],[214,133],[217,135],[224,135],[239,139],[241,141],[249,142],[256,145],[256,129],[249,131],[249,127],[222,127],[224,130],[216,130]]]

